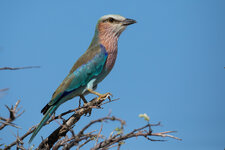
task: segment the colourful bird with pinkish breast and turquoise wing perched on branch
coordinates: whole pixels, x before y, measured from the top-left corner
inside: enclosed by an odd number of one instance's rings
[[[116,62],[119,36],[127,26],[134,23],[136,23],[134,19],[115,14],[104,15],[98,20],[88,49],[75,62],[69,74],[53,93],[49,103],[41,110],[44,117],[35,128],[29,143],[64,102],[80,97],[84,103],[87,103],[84,96],[89,93],[97,95],[98,98],[104,98],[110,94],[100,94],[95,90],[111,72]]]

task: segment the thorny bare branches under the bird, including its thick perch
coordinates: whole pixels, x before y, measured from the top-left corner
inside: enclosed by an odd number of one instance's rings
[[[171,135],[171,133],[174,133],[175,131],[153,133],[152,127],[160,126],[160,123],[150,124],[148,122],[147,125],[134,129],[125,134],[124,132],[125,121],[110,115],[91,121],[90,123],[85,125],[81,130],[76,131],[76,134],[75,134],[73,127],[79,121],[81,116],[90,112],[92,108],[101,108],[103,104],[113,101],[112,100],[109,102],[108,101],[104,102],[107,98],[108,96],[102,99],[94,98],[90,102],[84,104],[84,106],[82,107],[69,110],[67,112],[60,114],[59,116],[51,118],[46,124],[49,124],[50,122],[56,119],[62,119],[63,124],[60,127],[58,127],[55,131],[53,131],[52,134],[50,134],[46,139],[43,139],[43,141],[40,143],[37,149],[42,150],[42,149],[52,148],[53,150],[57,150],[59,148],[62,148],[63,150],[69,150],[72,147],[76,146],[77,150],[79,150],[80,148],[83,148],[84,146],[86,146],[88,143],[93,143],[93,147],[91,148],[91,150],[109,149],[112,147],[117,147],[117,149],[120,149],[120,147],[125,143],[126,140],[133,137],[135,138],[144,137],[145,139],[150,141],[165,141],[162,139],[153,139],[153,137],[161,137],[161,138],[168,137],[168,138],[173,138],[176,140],[181,140]],[[69,117],[69,119],[64,120],[62,117],[69,113],[73,113],[73,114]],[[101,131],[105,127],[104,124],[109,121],[119,122],[120,126],[115,128],[110,133],[110,135],[106,137],[101,133]],[[92,126],[96,126],[99,123],[101,123],[101,127],[99,130],[89,131]],[[17,149],[25,149],[23,147],[23,143],[24,143],[23,140],[28,135],[33,133],[34,129],[35,129],[34,127],[30,128],[28,132],[21,137],[17,135],[16,141],[5,146],[4,150],[11,149],[13,146],[16,146]],[[71,133],[70,137],[67,134],[68,132]]]

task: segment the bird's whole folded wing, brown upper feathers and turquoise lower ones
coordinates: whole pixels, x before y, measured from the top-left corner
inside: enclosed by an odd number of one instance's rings
[[[108,53],[103,45],[89,48],[74,64],[69,75],[56,89],[49,105],[54,105],[68,93],[85,86],[91,79],[98,76],[105,65]]]

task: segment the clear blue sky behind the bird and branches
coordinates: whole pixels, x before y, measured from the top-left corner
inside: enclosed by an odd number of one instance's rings
[[[37,124],[40,110],[84,53],[97,20],[105,14],[138,21],[121,35],[116,65],[97,90],[120,100],[94,110],[74,130],[112,110],[127,121],[130,131],[145,124],[138,114],[147,113],[152,123],[163,124],[155,131],[177,130],[183,141],[138,138],[122,149],[224,149],[224,0],[1,0],[0,67],[41,68],[0,72],[0,89],[10,88],[0,99],[0,115],[7,115],[4,104],[20,99],[26,112],[15,121],[22,127],[19,135]],[[57,114],[77,105],[78,98],[68,101]],[[34,144],[57,126],[44,127]],[[9,144],[16,133],[11,127],[0,131],[0,143]]]

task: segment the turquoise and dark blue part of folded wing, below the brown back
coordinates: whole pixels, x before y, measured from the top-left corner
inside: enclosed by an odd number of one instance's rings
[[[86,86],[90,80],[97,77],[102,72],[108,57],[105,47],[100,44],[95,49],[87,51],[87,55],[90,55],[88,53],[95,53],[95,55],[92,59],[85,64],[82,64],[66,77],[63,81],[62,90],[48,103],[49,106],[58,103],[63,97],[74,92],[78,88]]]

